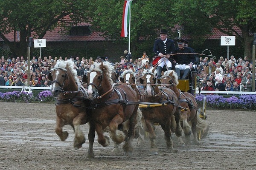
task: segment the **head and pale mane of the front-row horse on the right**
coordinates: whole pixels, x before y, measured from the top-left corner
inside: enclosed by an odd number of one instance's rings
[[[88,95],[90,99],[96,99],[104,94],[106,89],[112,87],[111,78],[114,68],[107,62],[96,63],[94,68],[89,70],[84,76],[84,82],[87,82]],[[104,87],[104,88],[103,88]]]

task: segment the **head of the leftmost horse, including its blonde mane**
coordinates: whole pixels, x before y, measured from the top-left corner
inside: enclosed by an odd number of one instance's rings
[[[63,91],[76,91],[79,83],[76,74],[77,71],[73,69],[72,60],[57,62],[48,76],[52,81],[52,96],[57,97]]]

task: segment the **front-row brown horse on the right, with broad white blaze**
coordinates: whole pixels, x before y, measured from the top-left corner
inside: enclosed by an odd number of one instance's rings
[[[94,68],[84,76],[87,82],[89,99],[93,100],[93,114],[90,121],[89,149],[87,158],[93,158],[93,142],[95,131],[98,142],[102,146],[109,145],[103,130],[108,126],[114,142],[120,144],[125,141],[123,150],[126,155],[133,152],[134,127],[138,110],[137,93],[128,85],[113,85],[111,73],[114,68],[107,62],[96,63]],[[122,130],[123,124],[129,121],[128,131]]]

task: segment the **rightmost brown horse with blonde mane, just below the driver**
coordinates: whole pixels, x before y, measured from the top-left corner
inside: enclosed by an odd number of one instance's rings
[[[197,137],[197,128],[203,130],[207,127],[207,124],[203,119],[200,118],[199,114],[197,113],[197,102],[195,100],[195,96],[187,92],[183,93],[177,88],[177,85],[179,84],[178,76],[177,73],[173,70],[166,71],[162,75],[160,81],[162,85],[167,85],[167,87],[172,89],[177,95],[180,105],[184,108],[187,108],[184,111],[181,111],[180,115],[186,144],[191,143],[191,131],[193,133],[194,143],[199,144]],[[191,126],[188,122],[191,122]]]

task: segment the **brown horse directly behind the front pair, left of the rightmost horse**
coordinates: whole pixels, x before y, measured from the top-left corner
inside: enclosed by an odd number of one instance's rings
[[[156,145],[156,135],[154,133],[154,123],[159,123],[165,133],[166,147],[168,150],[173,149],[173,142],[171,139],[171,123],[173,115],[176,121],[176,136],[182,135],[180,127],[180,107],[179,101],[175,93],[169,88],[159,88],[157,86],[157,77],[154,74],[154,69],[146,70],[140,76],[140,84],[144,85],[145,97],[144,102],[160,103],[160,107],[145,108],[142,110],[145,124],[148,129],[149,139],[151,142],[150,154],[158,154]]]

